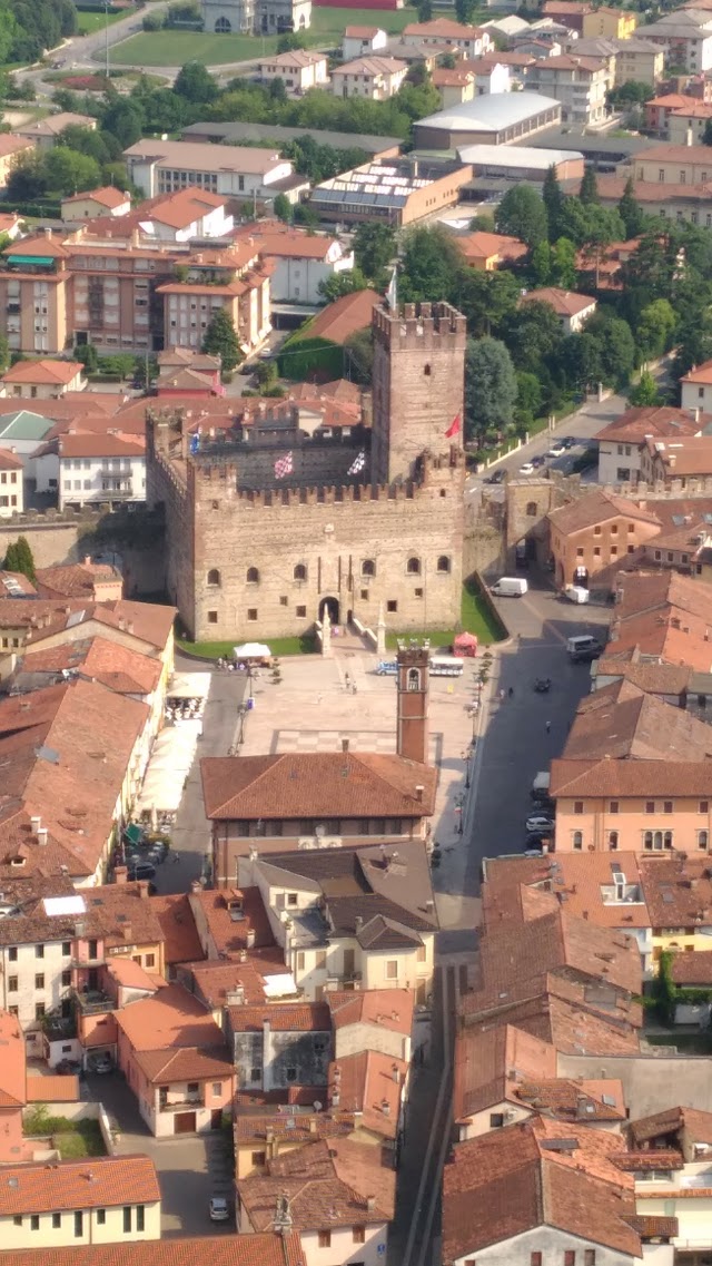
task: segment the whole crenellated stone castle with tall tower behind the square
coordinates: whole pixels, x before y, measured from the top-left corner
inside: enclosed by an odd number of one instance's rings
[[[293,637],[325,611],[374,628],[382,609],[398,632],[459,622],[465,338],[449,304],[376,308],[372,428],[348,437],[307,436],[283,408],[220,434],[149,414],[147,496],[191,637]]]

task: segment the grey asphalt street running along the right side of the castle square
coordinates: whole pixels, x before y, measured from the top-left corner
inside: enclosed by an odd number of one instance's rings
[[[577,703],[589,693],[589,666],[570,662],[567,638],[603,633],[611,617],[607,606],[559,598],[536,571],[526,575],[524,598],[497,600],[512,641],[494,658],[481,718],[465,817],[467,893],[477,890],[483,857],[524,848],[531,782],[562,751]],[[537,677],[551,679],[548,694],[534,690]]]

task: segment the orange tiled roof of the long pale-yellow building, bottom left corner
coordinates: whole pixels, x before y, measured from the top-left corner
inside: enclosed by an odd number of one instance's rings
[[[4,1165],[0,1217],[153,1204],[159,1199],[156,1166],[148,1156],[91,1156],[51,1165]]]

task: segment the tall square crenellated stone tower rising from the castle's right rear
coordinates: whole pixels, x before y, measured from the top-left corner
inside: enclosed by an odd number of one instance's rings
[[[463,443],[467,324],[450,304],[405,304],[373,314],[372,477],[412,479],[424,452]],[[459,432],[446,437],[454,419]]]

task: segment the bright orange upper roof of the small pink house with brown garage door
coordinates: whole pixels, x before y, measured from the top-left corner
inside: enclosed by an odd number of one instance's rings
[[[163,1055],[171,1047],[226,1050],[210,1013],[180,985],[166,985],[153,998],[130,1003],[116,1012],[116,1023],[134,1052]]]

